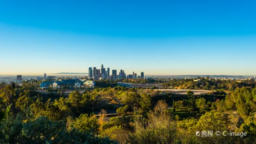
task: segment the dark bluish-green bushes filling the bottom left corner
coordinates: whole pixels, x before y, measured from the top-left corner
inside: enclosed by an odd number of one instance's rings
[[[98,137],[89,131],[66,131],[64,121],[52,121],[47,117],[27,118],[23,114],[0,124],[2,144],[116,144],[107,137]]]

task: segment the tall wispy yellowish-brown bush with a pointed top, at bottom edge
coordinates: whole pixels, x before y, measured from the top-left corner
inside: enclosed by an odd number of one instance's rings
[[[176,124],[168,114],[167,104],[158,101],[154,111],[148,114],[146,121],[136,118],[134,132],[129,137],[131,144],[172,144],[176,132]]]

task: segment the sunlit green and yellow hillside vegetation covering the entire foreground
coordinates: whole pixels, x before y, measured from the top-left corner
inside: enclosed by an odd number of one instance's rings
[[[44,101],[34,91],[35,84],[4,84],[0,87],[0,142],[253,144],[256,88],[239,86],[220,96],[117,86],[73,91],[66,97],[56,94],[58,98]],[[116,110],[119,117],[107,118],[104,109]],[[198,137],[196,131],[246,132],[247,136]]]

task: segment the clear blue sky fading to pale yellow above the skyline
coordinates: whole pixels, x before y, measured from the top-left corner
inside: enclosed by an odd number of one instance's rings
[[[0,0],[0,74],[256,75],[256,0]]]

